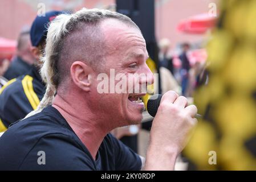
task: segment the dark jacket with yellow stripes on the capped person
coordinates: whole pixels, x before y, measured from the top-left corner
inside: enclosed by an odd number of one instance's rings
[[[35,67],[27,75],[14,78],[0,89],[0,132],[36,109],[45,88]]]

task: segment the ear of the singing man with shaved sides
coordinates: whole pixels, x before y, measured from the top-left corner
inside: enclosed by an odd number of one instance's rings
[[[71,78],[76,86],[89,92],[91,86],[92,68],[82,61],[75,61],[70,67]]]

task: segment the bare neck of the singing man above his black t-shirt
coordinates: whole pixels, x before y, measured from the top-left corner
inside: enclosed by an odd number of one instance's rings
[[[99,115],[94,115],[84,105],[85,99],[78,98],[79,94],[75,95],[76,97],[71,98],[56,94],[52,106],[63,115],[95,159],[101,142],[111,129],[108,129],[106,125],[108,122],[100,118]]]

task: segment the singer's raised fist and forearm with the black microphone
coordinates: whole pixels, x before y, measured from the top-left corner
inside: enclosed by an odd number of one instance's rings
[[[155,97],[156,100],[149,100],[147,106],[149,114],[155,115],[155,118],[147,153],[147,159],[151,160],[148,160],[146,167],[150,169],[159,164],[157,169],[173,169],[177,155],[184,149],[190,131],[197,123],[197,107],[187,106],[187,99],[174,91]]]

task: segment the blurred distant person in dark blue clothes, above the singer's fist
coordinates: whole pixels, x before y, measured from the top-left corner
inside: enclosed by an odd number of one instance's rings
[[[186,96],[186,91],[188,88],[188,82],[189,82],[189,70],[190,70],[190,64],[189,59],[187,56],[187,52],[190,48],[190,45],[188,43],[182,44],[182,53],[179,56],[179,59],[181,60],[181,87],[182,87],[182,96]]]

